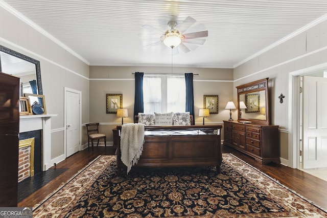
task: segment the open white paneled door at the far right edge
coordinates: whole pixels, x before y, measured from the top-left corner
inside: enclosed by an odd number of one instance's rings
[[[327,78],[303,77],[303,169],[327,167]]]

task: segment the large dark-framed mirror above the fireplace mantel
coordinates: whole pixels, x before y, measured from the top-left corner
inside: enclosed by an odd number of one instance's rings
[[[19,77],[23,93],[43,95],[40,61],[0,46],[0,72]],[[36,81],[34,92],[32,91],[33,85],[31,86],[33,80]]]

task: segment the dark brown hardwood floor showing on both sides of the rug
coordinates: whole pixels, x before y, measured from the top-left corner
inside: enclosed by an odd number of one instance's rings
[[[283,165],[261,165],[253,158],[242,154],[241,152],[223,145],[223,152],[232,153],[245,162],[265,172],[272,178],[275,178],[282,184],[293,189],[301,194],[304,198],[309,199],[322,208],[327,209],[327,182],[314,177],[306,172],[298,169],[292,169]],[[18,207],[33,207],[35,204],[41,202],[47,195],[56,190],[62,183],[75,175],[87,163],[95,159],[98,155],[114,155],[115,149],[113,147],[95,147],[77,152],[68,157],[66,160],[51,167],[52,171],[60,171],[57,177],[52,178],[51,181],[42,184],[38,190],[35,190],[28,197],[18,203]],[[46,176],[44,176],[46,177]],[[46,178],[41,178],[46,180]]]

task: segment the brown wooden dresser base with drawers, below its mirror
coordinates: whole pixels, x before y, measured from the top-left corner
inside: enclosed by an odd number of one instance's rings
[[[224,121],[224,145],[233,147],[262,164],[281,163],[277,125]]]

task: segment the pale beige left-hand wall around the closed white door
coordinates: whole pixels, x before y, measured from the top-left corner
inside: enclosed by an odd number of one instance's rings
[[[52,161],[64,156],[64,87],[82,92],[82,123],[89,120],[89,66],[0,7],[0,45],[40,61],[43,95],[52,120]],[[58,159],[59,157],[59,159]]]

